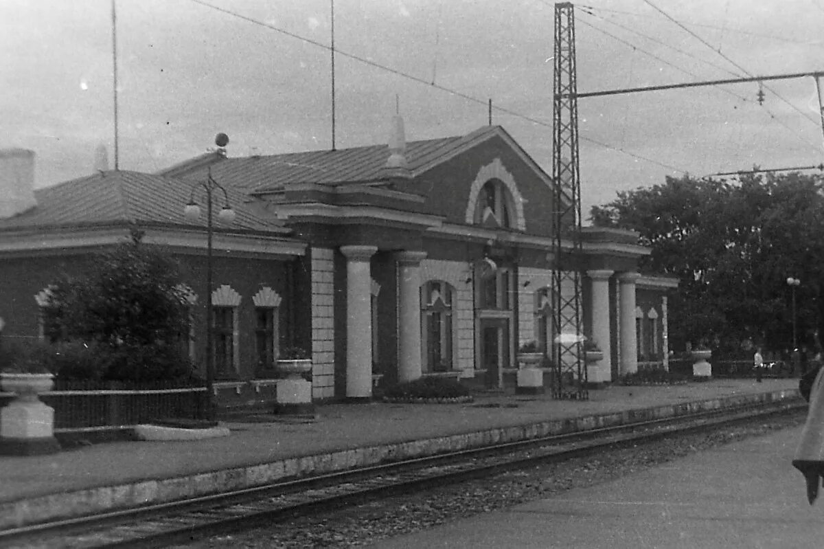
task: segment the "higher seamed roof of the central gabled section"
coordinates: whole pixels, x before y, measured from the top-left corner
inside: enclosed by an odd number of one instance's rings
[[[471,134],[406,143],[410,171],[427,166],[440,157],[449,157],[457,148],[494,134],[499,126],[485,126]],[[209,166],[213,177],[223,185],[249,193],[278,190],[289,183],[343,185],[381,181],[389,158],[387,145],[344,148],[335,151],[309,151],[259,157],[220,157],[211,153],[171,167],[161,173],[185,179],[205,178]]]

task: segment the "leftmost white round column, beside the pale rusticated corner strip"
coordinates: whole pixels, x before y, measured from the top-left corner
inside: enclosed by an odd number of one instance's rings
[[[340,246],[346,256],[346,397],[372,397],[372,276],[377,246]]]

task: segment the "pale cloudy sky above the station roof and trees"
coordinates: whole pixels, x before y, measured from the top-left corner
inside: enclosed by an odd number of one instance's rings
[[[159,171],[218,132],[230,157],[331,148],[331,0],[115,1],[120,169]],[[824,71],[824,0],[574,5],[581,93]],[[507,110],[493,123],[551,173],[553,2],[334,9],[336,148],[386,143],[396,104],[410,141],[468,134],[491,99]],[[0,148],[35,151],[35,186],[91,174],[101,144],[114,167],[111,16],[110,0],[0,0]],[[580,98],[584,219],[666,176],[822,162],[814,79],[764,82],[762,105],[758,90]]]

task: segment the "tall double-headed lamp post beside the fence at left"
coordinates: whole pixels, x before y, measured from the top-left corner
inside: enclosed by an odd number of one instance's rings
[[[212,178],[212,168],[208,169],[207,181],[199,181],[192,185],[189,204],[183,210],[185,218],[195,222],[200,218],[200,207],[194,202],[194,191],[198,187],[206,191],[206,392],[208,395],[207,419],[215,419],[214,402],[214,351],[212,348],[212,194],[214,190],[223,191],[223,207],[218,212],[218,219],[225,224],[235,220],[235,210],[229,206],[229,195],[226,189]]]

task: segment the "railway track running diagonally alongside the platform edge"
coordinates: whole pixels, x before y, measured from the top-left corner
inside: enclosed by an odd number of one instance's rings
[[[443,486],[529,467],[537,462],[569,460],[765,415],[800,412],[806,407],[807,403],[800,400],[742,406],[391,462],[220,495],[15,528],[0,532],[0,547],[162,547],[293,519],[332,506]]]

